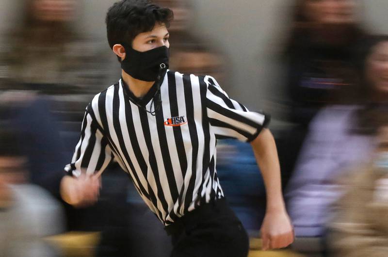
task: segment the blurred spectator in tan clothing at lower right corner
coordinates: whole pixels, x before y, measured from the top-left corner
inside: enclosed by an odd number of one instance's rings
[[[379,129],[373,160],[366,166],[352,170],[350,176],[342,179],[346,193],[339,199],[335,218],[329,225],[330,256],[387,256],[387,110],[380,114],[385,116],[385,126]]]

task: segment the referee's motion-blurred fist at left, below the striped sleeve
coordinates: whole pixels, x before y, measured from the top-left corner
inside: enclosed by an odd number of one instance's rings
[[[97,202],[100,187],[101,179],[99,176],[65,176],[61,180],[60,192],[66,203],[80,208]]]

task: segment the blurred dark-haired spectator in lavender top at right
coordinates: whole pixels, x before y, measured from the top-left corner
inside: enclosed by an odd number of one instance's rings
[[[324,236],[330,205],[341,193],[337,177],[371,160],[376,147],[381,113],[388,110],[388,37],[365,40],[357,66],[358,104],[331,105],[316,115],[286,189],[296,236]]]

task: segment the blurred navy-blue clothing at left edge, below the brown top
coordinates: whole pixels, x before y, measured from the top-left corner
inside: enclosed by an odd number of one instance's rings
[[[49,101],[31,91],[0,94],[0,121],[9,124],[15,144],[27,158],[29,181],[60,198],[65,159],[58,124],[49,110]]]

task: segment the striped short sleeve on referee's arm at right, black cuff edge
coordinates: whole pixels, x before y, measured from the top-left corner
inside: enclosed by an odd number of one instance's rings
[[[204,80],[207,84],[208,118],[217,139],[236,138],[251,142],[262,128],[268,126],[269,114],[250,112],[241,103],[230,99],[214,78],[205,76]]]

